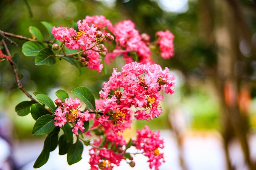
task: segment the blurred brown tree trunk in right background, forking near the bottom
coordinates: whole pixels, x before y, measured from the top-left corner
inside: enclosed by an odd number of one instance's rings
[[[216,45],[217,63],[208,70],[214,78],[216,91],[220,97],[223,113],[220,113],[222,123],[221,133],[224,139],[224,149],[228,170],[233,169],[230,162],[228,145],[232,139],[240,142],[245,164],[254,170],[250,159],[248,146],[248,117],[238,105],[238,92],[242,85],[249,84],[244,79],[242,70],[244,56],[239,50],[239,43],[244,39],[250,44],[250,31],[242,19],[236,0],[198,0],[199,28],[206,45]],[[254,53],[254,51],[252,51]]]

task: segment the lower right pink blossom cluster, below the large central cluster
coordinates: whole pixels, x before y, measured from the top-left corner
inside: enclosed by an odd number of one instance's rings
[[[159,166],[165,162],[164,154],[159,152],[159,149],[164,148],[164,141],[160,139],[160,131],[152,132],[145,125],[144,129],[137,130],[137,134],[136,140],[134,140],[136,149],[143,150],[144,155],[149,158],[150,169],[155,167],[155,170],[158,170]]]

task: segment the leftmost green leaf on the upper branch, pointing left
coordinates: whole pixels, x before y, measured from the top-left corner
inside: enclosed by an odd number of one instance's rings
[[[25,56],[36,56],[43,48],[45,48],[45,46],[40,42],[28,41],[22,45],[22,53]]]

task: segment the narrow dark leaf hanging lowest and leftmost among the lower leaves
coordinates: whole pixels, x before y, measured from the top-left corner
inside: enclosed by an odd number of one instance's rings
[[[36,159],[36,162],[34,163],[34,168],[40,168],[41,166],[43,166],[44,164],[46,164],[46,162],[49,159],[50,156],[50,140],[49,140],[50,136],[47,136],[45,141],[44,141],[44,148],[41,152],[41,154],[38,156],[38,158]]]

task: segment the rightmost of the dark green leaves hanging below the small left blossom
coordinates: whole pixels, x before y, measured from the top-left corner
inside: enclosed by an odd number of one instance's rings
[[[84,145],[79,139],[77,139],[76,143],[71,145],[71,147],[68,149],[68,155],[67,155],[67,160],[69,165],[79,162],[82,159],[83,149],[84,149]]]

